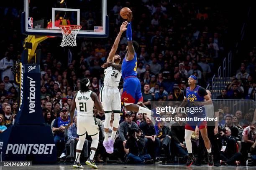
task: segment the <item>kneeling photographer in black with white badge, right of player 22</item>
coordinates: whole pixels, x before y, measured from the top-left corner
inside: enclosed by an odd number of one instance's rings
[[[222,165],[238,165],[242,154],[236,153],[236,139],[231,136],[230,128],[221,128],[218,138],[220,146],[220,160]]]

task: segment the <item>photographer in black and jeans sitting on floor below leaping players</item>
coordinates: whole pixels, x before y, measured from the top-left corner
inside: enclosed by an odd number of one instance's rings
[[[128,163],[154,163],[151,156],[143,154],[145,139],[141,138],[141,129],[133,128],[128,131],[128,139],[125,148],[129,149]]]

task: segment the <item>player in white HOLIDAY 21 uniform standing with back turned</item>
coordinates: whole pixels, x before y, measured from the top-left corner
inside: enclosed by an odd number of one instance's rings
[[[92,145],[90,157],[85,162],[92,168],[97,169],[96,164],[93,161],[95,151],[97,150],[99,143],[99,127],[97,125],[96,119],[93,115],[93,106],[95,105],[97,110],[103,110],[100,100],[98,99],[95,92],[89,90],[90,80],[84,78],[80,80],[80,90],[74,95],[72,100],[71,110],[70,110],[70,124],[73,123],[74,110],[77,109],[77,135],[79,135],[79,140],[77,143],[76,160],[74,162],[74,168],[83,168],[80,164],[81,150],[84,145],[86,132],[92,137]],[[70,125],[69,124],[69,125]]]

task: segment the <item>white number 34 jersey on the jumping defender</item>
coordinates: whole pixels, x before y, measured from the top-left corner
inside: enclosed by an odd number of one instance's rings
[[[110,66],[104,70],[104,85],[118,87],[121,77],[121,70],[116,70],[114,67]]]

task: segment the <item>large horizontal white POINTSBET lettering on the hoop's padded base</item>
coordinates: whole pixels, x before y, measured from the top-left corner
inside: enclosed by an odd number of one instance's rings
[[[54,146],[55,144],[8,144],[5,154],[51,154]]]

